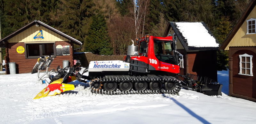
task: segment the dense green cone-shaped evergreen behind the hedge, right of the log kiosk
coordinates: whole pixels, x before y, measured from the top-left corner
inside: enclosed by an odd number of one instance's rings
[[[92,24],[85,39],[85,51],[99,55],[112,55],[108,28],[104,16],[101,14],[92,17]]]

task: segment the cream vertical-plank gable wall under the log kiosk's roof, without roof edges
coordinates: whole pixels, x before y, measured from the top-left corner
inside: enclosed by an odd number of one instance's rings
[[[43,37],[44,39],[34,39],[36,34],[43,30]],[[31,26],[28,29],[24,30],[23,32],[17,34],[16,36],[12,37],[8,40],[9,43],[17,43],[17,42],[47,42],[47,41],[68,41],[68,39],[60,36],[59,34],[45,28],[44,26],[36,27]]]

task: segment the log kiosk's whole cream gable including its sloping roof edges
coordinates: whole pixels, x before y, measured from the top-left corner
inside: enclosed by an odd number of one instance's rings
[[[36,26],[38,25],[38,26]],[[42,32],[41,32],[42,31]],[[42,33],[43,37],[41,35],[39,38],[34,37],[38,33]],[[56,41],[71,41],[77,45],[82,45],[82,42],[79,40],[76,40],[75,38],[72,38],[68,36],[67,34],[64,34],[55,28],[48,26],[44,24],[41,21],[34,20],[30,22],[28,25],[21,27],[19,30],[13,32],[12,34],[9,34],[8,36],[4,37],[0,40],[0,47],[6,47],[6,43],[32,43],[32,42],[56,42]]]

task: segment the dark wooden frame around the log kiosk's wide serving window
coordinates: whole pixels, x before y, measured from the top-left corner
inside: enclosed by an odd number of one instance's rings
[[[51,43],[53,43],[53,55],[52,55],[52,57],[56,57],[56,44],[55,44],[55,42],[33,42],[33,43],[29,43],[29,42],[27,42],[27,43],[24,43],[24,46],[25,46],[25,57],[26,57],[26,59],[35,59],[35,58],[39,58],[39,57],[41,57],[41,56],[43,56],[43,48],[42,48],[42,44],[51,44]],[[28,56],[28,46],[27,46],[27,44],[39,44],[39,56]]]

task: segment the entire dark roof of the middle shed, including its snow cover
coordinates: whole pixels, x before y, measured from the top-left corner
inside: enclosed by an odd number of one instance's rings
[[[171,27],[186,51],[217,50],[220,46],[204,22],[169,22],[164,36]]]

